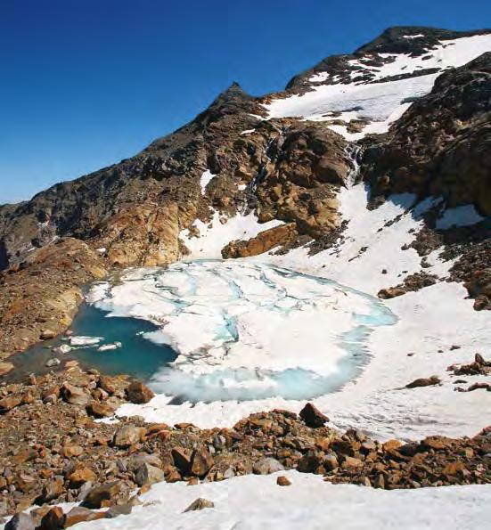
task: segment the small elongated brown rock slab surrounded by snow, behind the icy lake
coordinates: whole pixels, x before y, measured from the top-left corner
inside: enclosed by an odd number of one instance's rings
[[[247,241],[231,241],[222,249],[222,257],[249,257],[258,256],[274,247],[287,245],[298,236],[296,224],[280,224],[259,232],[256,237]]]

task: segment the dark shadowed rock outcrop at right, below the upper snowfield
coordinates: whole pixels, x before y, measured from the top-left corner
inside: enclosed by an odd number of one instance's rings
[[[386,135],[364,141],[373,196],[443,196],[491,215],[491,53],[438,77]]]

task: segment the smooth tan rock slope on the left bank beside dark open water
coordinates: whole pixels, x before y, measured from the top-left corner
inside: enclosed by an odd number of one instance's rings
[[[21,267],[0,273],[0,361],[65,330],[83,299],[82,286],[106,273],[101,257],[73,238],[37,249]]]

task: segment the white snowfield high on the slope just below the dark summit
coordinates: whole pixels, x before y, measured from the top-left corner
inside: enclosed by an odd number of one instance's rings
[[[372,60],[372,55],[369,55],[348,61],[348,65],[354,68],[351,83],[323,85],[330,75],[320,72],[310,78],[311,92],[274,99],[265,107],[269,118],[300,117],[314,121],[336,119],[346,122],[363,119],[368,123],[359,133],[350,133],[343,125],[329,125],[335,132],[355,141],[367,134],[389,130],[390,123],[402,116],[413,98],[431,91],[435,79],[443,70],[462,66],[490,50],[491,35],[477,35],[442,41],[436,49],[422,57],[384,53],[381,57],[388,62],[381,67],[369,64]],[[438,73],[418,75],[418,70],[435,68],[439,69]],[[356,77],[367,71],[373,74],[369,83],[356,81]],[[414,77],[390,80],[391,77],[411,73]]]

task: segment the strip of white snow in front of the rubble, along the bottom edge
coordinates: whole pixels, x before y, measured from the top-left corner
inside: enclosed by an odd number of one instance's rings
[[[356,485],[330,485],[323,477],[282,473],[291,485],[276,485],[276,475],[249,475],[188,486],[153,485],[146,504],[129,516],[83,523],[81,530],[258,528],[325,530],[378,528],[399,530],[479,530],[491,520],[491,487],[448,486],[386,491]],[[184,510],[198,497],[214,508]]]

